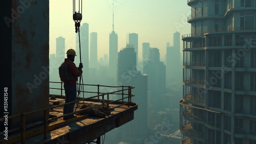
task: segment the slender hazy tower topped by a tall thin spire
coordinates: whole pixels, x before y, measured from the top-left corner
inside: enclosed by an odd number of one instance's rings
[[[109,37],[109,68],[110,68],[110,77],[116,83],[117,77],[117,55],[118,55],[118,36],[114,31],[114,3],[113,3],[113,30]]]

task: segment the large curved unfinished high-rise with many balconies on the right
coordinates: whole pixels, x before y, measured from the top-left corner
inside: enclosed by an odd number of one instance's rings
[[[256,3],[187,4],[181,143],[256,143]]]

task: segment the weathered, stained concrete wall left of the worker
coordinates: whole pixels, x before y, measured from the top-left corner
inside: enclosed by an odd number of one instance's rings
[[[12,0],[11,11],[11,107],[15,115],[49,106],[49,0]],[[37,113],[26,117],[26,122],[42,118]]]

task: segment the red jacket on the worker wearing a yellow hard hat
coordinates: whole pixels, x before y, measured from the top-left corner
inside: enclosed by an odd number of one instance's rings
[[[64,61],[61,65],[68,64],[69,62],[72,62],[72,60],[70,60],[70,59],[65,59],[65,61]],[[78,70],[78,67],[76,67],[76,64],[75,64],[75,63],[71,63],[71,64],[69,65],[69,74],[70,74],[70,75],[74,75],[74,76],[75,76],[75,79],[70,80],[70,81],[65,82],[65,83],[76,84],[77,77],[80,77],[80,76],[82,75],[82,70]]]

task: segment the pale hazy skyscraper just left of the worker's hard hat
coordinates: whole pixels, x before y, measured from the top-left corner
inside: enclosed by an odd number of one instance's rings
[[[65,57],[66,57],[65,38],[63,38],[62,36],[59,36],[58,38],[56,38],[56,58],[63,61]]]

